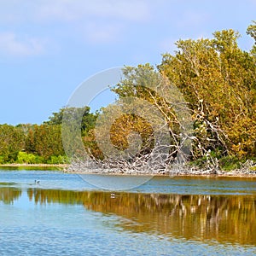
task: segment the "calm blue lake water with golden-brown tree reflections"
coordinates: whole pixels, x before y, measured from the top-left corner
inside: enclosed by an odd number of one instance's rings
[[[0,255],[255,254],[256,178],[154,177],[108,191],[76,174],[0,170]]]

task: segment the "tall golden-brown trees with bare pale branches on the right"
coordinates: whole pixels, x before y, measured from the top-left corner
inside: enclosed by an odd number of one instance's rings
[[[249,51],[239,48],[237,40],[240,34],[232,29],[214,32],[212,39],[179,40],[175,54],[163,55],[157,68],[150,64],[125,67],[123,79],[113,91],[119,99],[137,97],[159,110],[168,124],[170,154],[175,159],[181,150],[182,137],[180,122],[172,104],[176,101],[175,96],[168,102],[172,96],[166,95],[169,88],[165,86],[169,85],[165,85],[163,80],[168,79],[169,84],[174,84],[182,93],[192,117],[193,131],[190,137],[193,142],[189,155],[192,165],[228,170],[239,168],[249,159],[255,163],[256,22],[247,27],[247,35],[255,41]],[[146,87],[143,86],[145,84]],[[161,91],[150,90],[152,84],[151,88],[155,87],[154,84],[161,84]],[[102,109],[109,119],[114,113],[112,108],[114,106],[108,111]],[[157,123],[157,119],[151,121]],[[154,147],[150,124],[137,119],[136,115],[124,114],[113,126],[111,141],[115,148],[128,148],[127,137],[131,131],[140,133],[142,137],[142,154],[150,152],[152,144]],[[102,125],[101,133],[104,132]],[[102,158],[101,150],[93,142],[95,140],[91,137],[91,145],[94,146],[91,154]]]

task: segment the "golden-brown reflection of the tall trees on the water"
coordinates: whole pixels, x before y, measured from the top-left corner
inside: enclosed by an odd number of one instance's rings
[[[101,191],[28,189],[36,203],[79,204],[119,216],[117,225],[131,232],[200,241],[256,243],[253,195],[162,195]]]

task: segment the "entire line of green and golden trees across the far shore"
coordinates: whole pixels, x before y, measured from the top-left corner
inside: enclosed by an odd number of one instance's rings
[[[119,99],[137,97],[154,105],[163,114],[173,143],[170,154],[177,155],[180,141],[179,123],[168,97],[143,87],[157,82],[159,75],[175,84],[182,93],[192,117],[193,137],[189,161],[197,166],[219,165],[233,169],[256,158],[256,23],[248,26],[247,35],[254,39],[253,48],[239,48],[238,32],[223,30],[213,38],[177,41],[174,55],[163,55],[156,68],[150,64],[125,67],[123,79],[112,88]],[[169,97],[170,98],[170,97]],[[110,106],[110,108],[112,108]],[[114,108],[114,106],[113,106]],[[108,108],[109,109],[109,108]],[[101,113],[106,109],[102,108]],[[61,108],[42,125],[0,125],[0,163],[59,163],[67,160],[61,141]],[[81,135],[84,146],[94,159],[104,159],[96,143],[94,125],[98,113],[90,108],[68,108],[65,114],[83,112]],[[109,114],[111,112],[106,112]],[[109,118],[111,118],[109,116]],[[151,123],[157,123],[152,119]],[[152,125],[152,124],[151,124]],[[154,148],[154,129],[145,119],[124,114],[111,127],[115,148],[129,146],[129,133],[142,137],[140,154]],[[106,130],[106,128],[105,128]],[[102,137],[109,131],[102,127]],[[106,134],[106,136],[105,136]],[[171,145],[172,146],[172,145]]]

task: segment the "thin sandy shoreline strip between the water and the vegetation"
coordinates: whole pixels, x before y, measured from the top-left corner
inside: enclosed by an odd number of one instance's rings
[[[159,176],[159,177],[256,177],[256,171],[251,171],[250,173],[246,173],[245,170],[232,170],[230,172],[224,172],[224,171],[218,171],[218,172],[206,172],[206,171],[196,171],[191,172],[189,170],[184,170],[177,173],[140,173],[140,172],[134,172],[134,173],[125,173],[125,172],[92,172],[90,170],[86,171],[72,171],[68,170],[69,164],[1,164],[1,167],[56,167],[56,169],[61,168],[61,171],[65,173],[73,173],[73,174],[94,174],[94,175],[115,175],[115,176]],[[65,170],[66,169],[66,170]],[[95,170],[96,171],[96,170]]]

